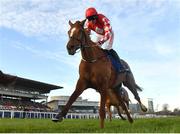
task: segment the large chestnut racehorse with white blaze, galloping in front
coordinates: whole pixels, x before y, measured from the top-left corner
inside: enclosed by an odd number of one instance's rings
[[[79,79],[75,91],[70,96],[67,104],[52,120],[55,122],[62,121],[77,97],[79,97],[87,88],[94,88],[100,93],[100,127],[104,128],[105,102],[108,90],[113,89],[123,82],[123,84],[129,86],[128,88],[134,94],[140,106],[142,104],[136,90],[137,84],[132,77],[133,75],[131,73],[130,75],[128,73],[121,73],[121,77],[116,77],[116,71],[111,64],[110,59],[107,57],[103,49],[91,40],[89,34],[84,29],[85,21],[86,20],[76,21],[74,24],[69,21],[69,41],[66,47],[69,55],[74,55],[78,49],[81,50],[82,60],[79,65]],[[133,122],[126,105],[121,98],[118,99],[121,107],[127,114],[129,122]],[[145,111],[146,109],[143,110]]]

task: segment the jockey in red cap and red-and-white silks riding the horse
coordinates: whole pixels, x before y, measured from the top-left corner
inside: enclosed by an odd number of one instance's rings
[[[109,19],[103,14],[97,13],[96,9],[93,7],[86,10],[86,19],[88,20],[86,23],[86,30],[89,34],[91,30],[98,34],[97,45],[101,47],[105,43],[105,52],[111,55],[121,65],[119,72],[127,71],[121,64],[121,60],[116,51],[112,49],[114,32]]]

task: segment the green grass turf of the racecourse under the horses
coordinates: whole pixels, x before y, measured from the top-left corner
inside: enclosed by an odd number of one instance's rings
[[[105,128],[99,128],[98,119],[65,119],[53,123],[50,119],[0,119],[2,133],[180,133],[180,117],[135,119],[128,121],[114,119],[105,121]]]

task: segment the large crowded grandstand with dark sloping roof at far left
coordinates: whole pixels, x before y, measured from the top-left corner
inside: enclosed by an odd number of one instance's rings
[[[47,94],[51,90],[62,87],[35,80],[5,74],[0,71],[0,118],[22,117],[51,117],[52,112],[47,104]],[[35,100],[44,100],[44,103]]]

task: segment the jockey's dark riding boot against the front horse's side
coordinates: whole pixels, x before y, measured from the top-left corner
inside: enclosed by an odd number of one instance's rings
[[[115,50],[113,49],[109,50],[109,54],[120,64],[119,73],[129,71],[129,69],[123,66],[123,64],[121,63],[121,59],[119,58]]]

